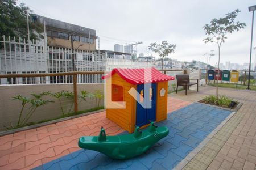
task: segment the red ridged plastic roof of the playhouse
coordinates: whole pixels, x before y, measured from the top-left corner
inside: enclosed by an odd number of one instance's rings
[[[154,67],[146,69],[146,78],[144,72],[145,69],[113,69],[110,74],[102,76],[102,79],[109,78],[114,73],[117,73],[122,79],[131,84],[155,83],[174,80],[174,76],[165,75],[156,70]]]

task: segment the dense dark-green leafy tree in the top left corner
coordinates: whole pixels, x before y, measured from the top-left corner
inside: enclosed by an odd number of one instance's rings
[[[15,0],[1,0],[0,11],[0,37],[5,35],[27,40],[27,12],[32,12],[30,8],[24,3],[17,6]],[[39,34],[43,32],[43,24],[32,22],[31,18],[29,16],[30,39],[38,40],[43,37]]]

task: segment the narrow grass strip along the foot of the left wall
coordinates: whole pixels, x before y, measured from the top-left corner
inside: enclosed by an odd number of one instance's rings
[[[98,111],[98,110],[101,110],[101,109],[104,109],[104,106],[96,107],[96,108],[91,108],[91,109],[86,109],[86,110],[84,110],[84,111],[79,111],[79,112],[77,112],[77,113],[72,112],[72,113],[64,114],[64,115],[61,115],[61,116],[58,116],[58,117],[48,118],[48,119],[45,119],[45,120],[42,120],[42,121],[38,121],[38,122],[29,122],[29,123],[27,123],[27,124],[24,125],[24,126],[19,126],[19,127],[15,127],[15,128],[10,128],[10,129],[8,129],[8,130],[17,129],[17,128],[22,128],[22,127],[25,127],[25,126],[31,126],[31,125],[41,124],[41,123],[44,123],[44,122],[48,122],[48,121],[52,121],[52,120],[57,120],[57,119],[60,119],[60,118],[65,118],[65,117],[70,117],[70,116],[75,116],[75,115],[79,115],[79,114],[83,114],[83,113]]]

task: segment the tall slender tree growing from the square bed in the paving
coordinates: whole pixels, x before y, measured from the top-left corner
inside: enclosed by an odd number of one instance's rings
[[[226,14],[224,18],[212,19],[210,24],[206,24],[203,27],[205,34],[209,35],[209,37],[203,41],[205,43],[214,42],[218,45],[218,70],[220,70],[220,48],[222,43],[225,42],[225,39],[227,39],[226,35],[234,31],[239,31],[241,28],[246,26],[245,23],[240,23],[239,21],[235,22],[238,12],[241,11],[237,9]],[[218,73],[218,75],[220,74]],[[218,99],[218,80],[216,85],[216,96]]]

